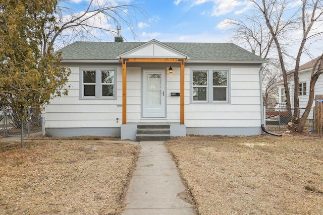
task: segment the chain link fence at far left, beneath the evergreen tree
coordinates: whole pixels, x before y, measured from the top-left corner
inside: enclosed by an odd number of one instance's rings
[[[25,118],[24,136],[44,135],[45,113],[43,110],[39,111],[34,107],[29,107]],[[21,132],[21,119],[17,117],[17,114],[11,108],[0,108],[0,135],[3,137],[21,136]]]

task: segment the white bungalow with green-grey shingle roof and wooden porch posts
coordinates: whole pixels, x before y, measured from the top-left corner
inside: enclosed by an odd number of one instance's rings
[[[169,125],[171,136],[261,133],[265,61],[233,43],[74,42],[60,51],[71,88],[46,107],[47,135],[135,139],[142,124]]]

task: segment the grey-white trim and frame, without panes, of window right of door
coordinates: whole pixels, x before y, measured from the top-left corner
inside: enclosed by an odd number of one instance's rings
[[[207,71],[206,101],[193,100],[193,71]],[[213,101],[213,71],[227,72],[227,100]],[[220,86],[219,86],[220,87]],[[221,86],[224,87],[224,86]],[[190,68],[190,104],[231,104],[231,68],[196,67]]]

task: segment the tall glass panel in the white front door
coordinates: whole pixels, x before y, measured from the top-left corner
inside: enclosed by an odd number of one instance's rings
[[[146,105],[161,105],[161,74],[147,74]]]

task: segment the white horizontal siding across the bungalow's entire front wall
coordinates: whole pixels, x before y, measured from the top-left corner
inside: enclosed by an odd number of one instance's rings
[[[82,64],[83,65],[83,64]],[[127,123],[139,122],[180,122],[180,67],[173,66],[173,73],[167,74],[166,110],[164,119],[141,118],[141,73],[145,64],[138,67],[127,67]],[[186,127],[260,127],[260,65],[243,64],[211,64],[208,68],[187,64],[184,72],[184,110]],[[46,107],[46,128],[86,128],[86,127],[120,127],[122,124],[122,67],[109,64],[84,64],[70,66],[72,74],[67,85],[70,85],[68,96],[54,98]],[[169,68],[169,65],[165,65]],[[191,71],[208,70],[228,71],[228,101],[213,102],[213,96],[207,97],[210,103],[192,102]],[[83,81],[80,72],[83,70],[96,71],[96,97],[94,99],[80,99]],[[97,98],[101,94],[102,70],[115,71],[115,99]],[[217,85],[214,85],[217,86]],[[208,85],[213,91],[213,84]],[[81,91],[81,93],[80,93]],[[118,120],[117,120],[118,118]]]

